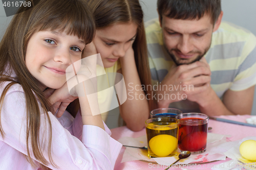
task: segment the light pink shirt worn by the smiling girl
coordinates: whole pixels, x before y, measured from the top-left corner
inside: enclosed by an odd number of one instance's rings
[[[0,87],[2,94],[4,83]],[[40,107],[40,104],[39,104]],[[42,108],[40,107],[42,110]],[[105,131],[99,127],[82,125],[81,115],[73,118],[65,112],[56,118],[49,112],[52,123],[52,158],[57,169],[114,169],[115,161],[122,144],[110,137],[111,132],[105,126]],[[0,134],[0,169],[38,169],[32,168],[26,160],[26,100],[22,87],[18,84],[8,90],[1,111],[1,124],[5,138]],[[48,121],[42,113],[40,117],[40,146],[45,148],[44,156],[48,158]],[[43,139],[44,138],[44,139]],[[50,162],[50,161],[49,161]],[[54,168],[51,164],[48,165]]]

